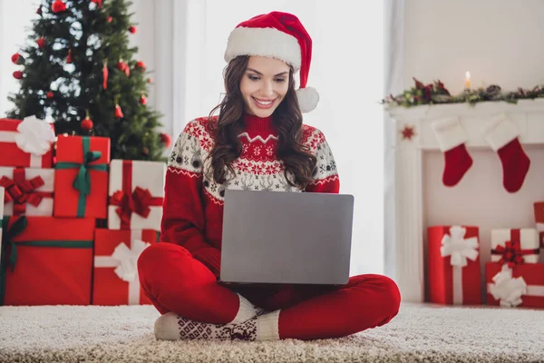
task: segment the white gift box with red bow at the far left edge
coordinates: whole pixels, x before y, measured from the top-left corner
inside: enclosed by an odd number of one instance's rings
[[[17,174],[18,176],[15,176]],[[26,197],[29,198],[29,201],[24,203],[24,212],[15,212],[15,215],[25,214],[27,216],[53,216],[53,185],[54,185],[54,169],[41,169],[41,168],[10,168],[10,167],[0,167],[0,180],[9,179],[10,181],[15,182],[15,184],[20,184],[21,182],[30,182],[34,183],[40,179],[40,184],[43,182],[43,185],[38,188],[32,188],[29,191],[26,191]],[[21,191],[21,186],[15,185],[17,191],[10,191],[8,187],[4,185],[4,188],[7,190],[8,194],[17,195],[18,191]],[[4,193],[3,193],[4,195]],[[33,205],[31,196],[39,198],[39,201],[36,205]],[[4,205],[4,214],[5,216],[14,215],[15,201],[5,201]]]

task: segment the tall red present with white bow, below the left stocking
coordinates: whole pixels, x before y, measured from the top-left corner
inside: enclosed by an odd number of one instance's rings
[[[432,226],[427,233],[431,302],[480,305],[478,227]]]

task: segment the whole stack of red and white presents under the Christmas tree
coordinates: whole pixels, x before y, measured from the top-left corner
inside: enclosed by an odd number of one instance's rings
[[[149,304],[137,260],[158,241],[164,162],[110,139],[0,119],[0,305]]]

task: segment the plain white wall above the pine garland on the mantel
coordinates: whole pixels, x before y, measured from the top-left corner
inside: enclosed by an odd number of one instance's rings
[[[440,78],[453,93],[499,84],[503,90],[544,83],[544,1],[410,0],[406,2],[404,86],[412,76]]]

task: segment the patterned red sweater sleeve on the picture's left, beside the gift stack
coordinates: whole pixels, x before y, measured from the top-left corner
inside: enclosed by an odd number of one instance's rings
[[[160,241],[176,243],[219,277],[221,252],[204,238],[202,204],[203,126],[188,123],[174,144],[164,187]]]

